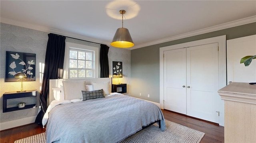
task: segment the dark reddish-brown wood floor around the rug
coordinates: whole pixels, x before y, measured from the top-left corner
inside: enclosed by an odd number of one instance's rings
[[[169,121],[204,132],[205,135],[200,143],[224,143],[224,127],[170,112],[168,110],[162,110],[162,112],[164,114],[164,118]],[[14,143],[14,141],[18,139],[43,132],[45,132],[45,129],[35,123],[4,130],[0,132],[0,143]]]

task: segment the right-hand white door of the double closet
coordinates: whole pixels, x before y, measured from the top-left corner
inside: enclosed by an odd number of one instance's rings
[[[219,123],[218,43],[188,47],[187,115]]]

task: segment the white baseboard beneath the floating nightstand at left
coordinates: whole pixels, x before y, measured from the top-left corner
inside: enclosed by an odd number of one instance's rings
[[[36,116],[28,117],[28,118],[22,118],[22,119],[16,119],[13,121],[6,121],[3,123],[0,123],[0,131],[5,130],[5,129],[10,129],[13,127],[18,127],[21,125],[26,125],[30,123],[34,123],[36,120]]]

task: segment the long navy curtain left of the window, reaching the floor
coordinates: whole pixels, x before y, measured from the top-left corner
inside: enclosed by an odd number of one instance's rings
[[[63,78],[63,64],[65,55],[66,37],[48,34],[48,43],[44,62],[44,76],[40,93],[41,111],[36,117],[35,123],[42,124],[42,118],[47,109],[47,98],[49,94],[49,79]]]

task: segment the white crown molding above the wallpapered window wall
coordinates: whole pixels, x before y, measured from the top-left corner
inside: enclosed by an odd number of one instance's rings
[[[91,41],[91,42],[95,42],[95,43],[110,45],[109,41],[99,40],[99,39],[95,39],[95,38],[92,38],[92,37],[87,37],[87,36],[84,36],[84,35],[79,35],[79,34],[75,34],[75,33],[71,33],[71,32],[61,31],[61,30],[58,30],[58,29],[39,26],[39,25],[35,25],[35,24],[28,24],[28,23],[24,23],[24,22],[18,22],[18,21],[15,21],[15,20],[10,20],[8,18],[0,18],[0,22],[5,23],[5,24],[16,25],[16,26],[20,26],[20,27],[25,27],[25,28],[29,28],[29,29],[34,29],[34,30],[38,30],[38,31],[44,31],[44,32],[48,32],[48,33],[63,35],[63,36],[67,36],[67,37],[73,37],[73,38],[76,38],[76,39]]]

